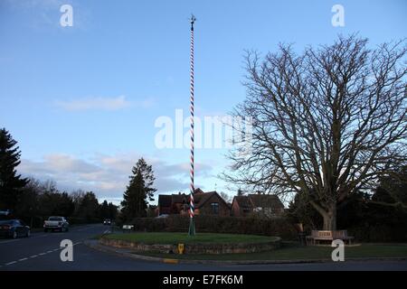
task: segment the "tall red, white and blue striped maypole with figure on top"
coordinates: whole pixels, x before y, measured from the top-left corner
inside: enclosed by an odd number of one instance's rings
[[[196,18],[191,15],[191,187],[189,200],[189,236],[195,235],[194,223],[194,23]]]

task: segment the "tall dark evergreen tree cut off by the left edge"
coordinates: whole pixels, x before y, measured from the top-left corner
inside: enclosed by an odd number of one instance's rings
[[[15,210],[21,191],[28,183],[15,170],[21,163],[21,152],[16,144],[5,128],[0,129],[0,209],[3,210]]]

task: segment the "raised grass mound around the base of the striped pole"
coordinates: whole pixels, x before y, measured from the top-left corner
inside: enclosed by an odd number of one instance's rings
[[[261,243],[276,239],[275,237],[235,235],[235,234],[211,234],[201,233],[194,237],[188,237],[186,233],[128,233],[111,234],[105,238],[128,240],[143,244],[193,244],[193,243]]]

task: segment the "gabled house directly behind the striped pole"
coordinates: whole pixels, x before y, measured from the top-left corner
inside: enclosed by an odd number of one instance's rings
[[[204,192],[201,189],[194,191],[195,215],[230,216],[231,209],[225,200],[216,192]],[[188,215],[189,195],[179,192],[172,195],[159,195],[157,216],[168,214]]]

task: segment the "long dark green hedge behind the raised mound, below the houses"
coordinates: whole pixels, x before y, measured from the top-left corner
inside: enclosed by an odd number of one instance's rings
[[[189,218],[174,215],[167,218],[137,218],[130,222],[136,230],[150,232],[188,231]],[[203,233],[228,233],[297,238],[297,231],[287,219],[196,216],[195,228]]]

